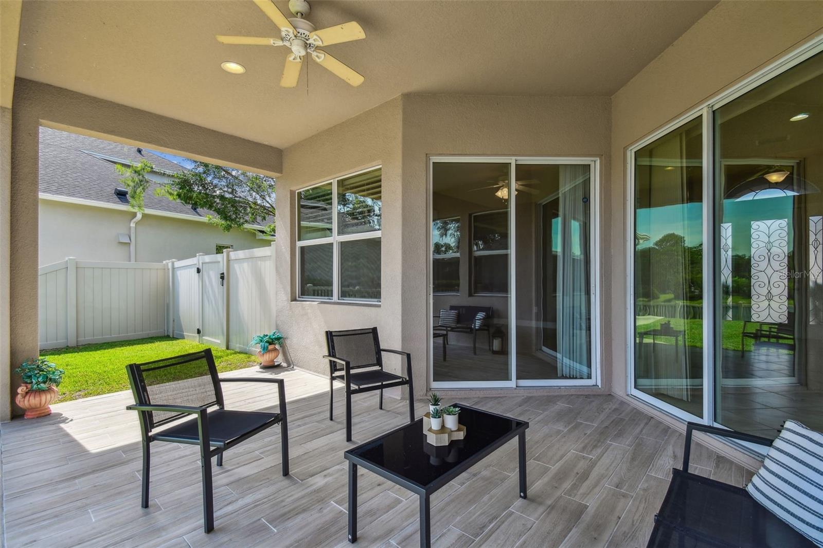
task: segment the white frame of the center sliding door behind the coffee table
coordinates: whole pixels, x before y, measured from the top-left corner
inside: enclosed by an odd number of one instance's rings
[[[432,234],[431,226],[433,220],[433,167],[435,163],[489,163],[489,164],[509,164],[509,333],[508,333],[508,352],[509,352],[509,379],[500,381],[459,381],[459,382],[436,382],[434,380],[434,345],[432,344],[432,327],[434,327],[434,268],[431,260],[432,254]],[[518,164],[523,165],[589,165],[589,196],[591,196],[592,203],[589,204],[589,211],[592,221],[592,230],[589,234],[589,248],[591,249],[591,280],[590,280],[590,299],[591,299],[591,363],[592,363],[592,378],[581,379],[545,379],[545,380],[517,380],[517,329],[516,329],[516,303],[517,303],[517,284],[515,283],[514,273],[516,272],[517,251],[516,239],[517,229],[515,226],[514,211],[516,207],[517,196],[514,192],[514,174]],[[594,157],[525,157],[525,156],[429,156],[428,165],[428,181],[426,190],[428,200],[428,250],[429,250],[429,269],[428,269],[428,295],[426,299],[426,308],[428,316],[428,370],[430,379],[430,388],[516,388],[518,386],[600,386],[601,382],[601,341],[600,341],[600,275],[601,275],[601,253],[600,253],[600,159]],[[471,247],[471,246],[470,246]],[[471,258],[468,258],[471,260]]]

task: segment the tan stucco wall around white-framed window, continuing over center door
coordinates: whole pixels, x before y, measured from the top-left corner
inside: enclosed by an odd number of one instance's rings
[[[415,392],[425,392],[427,155],[587,156],[600,158],[607,172],[609,124],[607,98],[402,95],[287,148],[277,193],[277,327],[291,340],[291,362],[326,374],[323,331],[376,325],[384,346],[412,353]],[[383,165],[382,303],[295,300],[295,189],[377,164]]]

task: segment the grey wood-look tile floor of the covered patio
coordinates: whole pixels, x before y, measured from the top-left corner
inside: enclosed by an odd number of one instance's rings
[[[257,369],[227,376],[266,375]],[[141,449],[128,392],[53,406],[53,415],[0,425],[5,541],[16,546],[349,546],[343,451],[407,417],[404,402],[354,398],[346,444],[340,390],[328,420],[328,381],[286,378],[291,476],[281,476],[273,428],[214,467],[215,530],[202,532],[197,448],[152,444],[151,504],[140,507]],[[272,385],[224,385],[226,406],[273,410]],[[528,499],[518,498],[517,442],[498,449],[432,499],[435,546],[645,546],[678,467],[683,434],[611,396],[461,398],[530,422]],[[417,414],[426,411],[418,402]],[[212,461],[213,462],[213,461]],[[751,477],[704,446],[695,471],[735,485]],[[418,503],[360,471],[356,546],[417,546]]]

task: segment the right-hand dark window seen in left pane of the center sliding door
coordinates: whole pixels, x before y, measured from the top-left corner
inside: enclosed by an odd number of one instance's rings
[[[472,214],[472,295],[509,295],[509,210]]]

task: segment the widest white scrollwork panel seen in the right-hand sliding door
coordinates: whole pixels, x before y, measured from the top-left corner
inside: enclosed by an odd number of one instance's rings
[[[788,322],[788,221],[751,221],[751,320]]]

